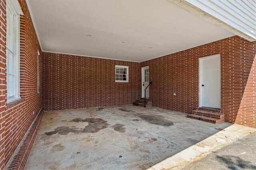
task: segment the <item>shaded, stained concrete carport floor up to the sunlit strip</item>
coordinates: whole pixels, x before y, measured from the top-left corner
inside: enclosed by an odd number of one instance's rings
[[[25,169],[146,169],[230,125],[133,105],[49,111]]]

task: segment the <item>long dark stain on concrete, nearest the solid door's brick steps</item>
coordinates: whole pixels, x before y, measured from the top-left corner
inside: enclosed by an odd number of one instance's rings
[[[141,119],[144,121],[147,121],[148,123],[154,124],[154,125],[160,125],[164,127],[172,126],[172,121],[168,121],[167,119],[162,118],[160,115],[138,115]]]

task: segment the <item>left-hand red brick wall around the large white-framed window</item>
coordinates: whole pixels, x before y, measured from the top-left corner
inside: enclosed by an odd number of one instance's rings
[[[6,104],[6,1],[0,0],[0,169],[8,163],[42,107],[41,94],[37,93],[37,57],[41,49],[26,1],[19,0],[19,3],[24,13],[20,16],[21,99]]]

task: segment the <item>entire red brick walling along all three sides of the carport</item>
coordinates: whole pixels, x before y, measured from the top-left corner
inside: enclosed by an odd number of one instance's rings
[[[20,16],[22,99],[6,104],[6,1],[0,0],[0,169],[10,160],[42,104],[46,110],[132,104],[140,98],[140,67],[146,65],[154,82],[150,87],[152,104],[190,113],[199,105],[198,58],[217,53],[221,54],[221,109],[225,121],[256,127],[255,42],[234,36],[142,63],[44,52],[43,61],[40,55],[43,65],[39,65],[44,71],[42,96],[37,93],[37,51],[41,53],[41,49],[26,1],[19,2],[24,12]],[[129,66],[129,83],[115,83],[115,65]],[[31,138],[35,133],[30,132]],[[22,150],[22,166],[32,146],[28,143],[26,151]]]

